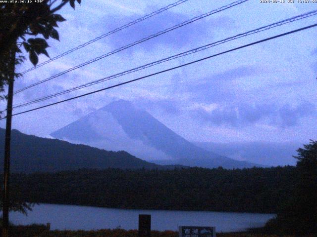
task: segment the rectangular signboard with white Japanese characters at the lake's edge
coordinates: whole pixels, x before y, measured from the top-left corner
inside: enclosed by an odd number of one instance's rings
[[[205,226],[180,226],[179,237],[215,237],[215,227]]]

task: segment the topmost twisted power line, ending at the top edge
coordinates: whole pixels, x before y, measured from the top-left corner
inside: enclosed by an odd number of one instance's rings
[[[144,21],[145,19],[148,19],[148,18],[150,18],[150,17],[152,17],[152,16],[155,16],[155,15],[157,15],[157,14],[163,12],[163,11],[166,11],[166,10],[168,10],[169,8],[172,8],[172,7],[174,7],[174,6],[177,6],[177,5],[179,5],[179,4],[181,4],[181,3],[185,2],[185,1],[188,1],[188,0],[179,0],[179,1],[176,1],[176,2],[174,2],[174,3],[169,4],[169,5],[167,5],[167,6],[164,6],[164,7],[160,8],[160,9],[157,10],[157,11],[154,11],[154,12],[152,12],[152,13],[150,13],[150,14],[148,14],[148,15],[145,15],[145,16],[139,18],[139,19],[136,19],[136,20],[134,20],[134,21],[131,21],[131,22],[129,22],[128,24],[125,24],[125,25],[123,25],[123,26],[120,26],[119,28],[116,28],[116,29],[114,29],[114,30],[112,30],[112,31],[109,31],[109,32],[107,32],[107,33],[104,34],[104,35],[101,35],[101,36],[99,36],[99,37],[97,37],[97,38],[95,38],[95,39],[93,39],[93,40],[89,40],[88,42],[85,42],[85,43],[83,43],[83,44],[81,44],[81,45],[78,45],[77,47],[74,47],[74,48],[72,48],[72,49],[70,49],[70,50],[68,50],[68,51],[66,51],[66,52],[63,52],[63,53],[61,53],[61,54],[59,54],[59,55],[57,55],[57,56],[55,56],[55,57],[53,57],[53,58],[51,58],[51,59],[49,59],[49,60],[43,62],[43,63],[40,63],[40,64],[36,65],[36,66],[33,67],[33,68],[29,68],[28,70],[25,70],[25,71],[22,72],[21,74],[23,75],[23,74],[26,74],[27,72],[30,72],[30,71],[34,70],[34,69],[37,69],[37,68],[39,68],[39,67],[42,67],[42,66],[45,65],[45,64],[48,64],[48,63],[50,63],[50,62],[52,62],[52,61],[54,61],[54,60],[56,60],[56,59],[58,59],[58,58],[61,58],[61,57],[65,56],[65,55],[67,55],[67,54],[69,54],[69,53],[71,53],[71,52],[76,51],[77,49],[83,48],[83,47],[85,47],[85,46],[87,46],[87,45],[89,45],[89,44],[91,44],[91,43],[93,43],[93,42],[96,42],[96,41],[98,41],[98,40],[101,40],[101,39],[103,39],[103,38],[105,38],[105,37],[107,37],[107,36],[109,36],[109,35],[112,35],[112,34],[118,32],[118,31],[121,31],[121,30],[123,30],[123,29],[125,29],[125,28],[128,28],[128,27],[130,27],[130,26],[132,26],[132,25],[134,25],[134,24],[136,24],[136,23],[139,23],[139,22],[141,22],[141,21]]]

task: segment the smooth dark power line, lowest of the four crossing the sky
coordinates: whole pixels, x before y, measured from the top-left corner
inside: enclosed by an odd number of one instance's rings
[[[293,34],[293,33],[299,32],[299,31],[303,31],[303,30],[307,30],[307,29],[310,29],[310,28],[313,28],[313,27],[316,27],[316,26],[317,26],[317,24],[313,24],[313,25],[310,25],[310,26],[306,26],[306,27],[303,27],[303,28],[294,30],[294,31],[289,31],[289,32],[286,32],[286,33],[283,33],[283,34],[280,34],[280,35],[276,35],[276,36],[273,36],[273,37],[269,37],[269,38],[266,38],[266,39],[264,39],[264,40],[258,40],[258,41],[255,41],[255,42],[252,42],[252,43],[248,43],[248,44],[245,44],[245,45],[242,45],[242,46],[233,48],[233,49],[229,49],[229,50],[223,51],[223,52],[221,52],[221,53],[213,54],[213,55],[208,56],[208,57],[205,57],[205,58],[201,58],[201,59],[198,59],[198,60],[189,62],[189,63],[185,63],[185,64],[182,64],[182,65],[173,67],[173,68],[169,68],[169,69],[166,69],[166,70],[157,72],[157,73],[153,73],[153,74],[150,74],[150,75],[147,75],[147,76],[144,76],[144,77],[140,77],[140,78],[137,78],[137,79],[133,79],[133,80],[128,80],[128,81],[125,81],[125,82],[122,82],[122,83],[118,83],[118,84],[115,84],[115,85],[112,85],[112,86],[108,86],[108,87],[103,88],[103,89],[95,90],[95,91],[92,91],[92,92],[89,92],[89,93],[86,93],[86,94],[82,94],[82,95],[75,96],[75,97],[72,97],[72,98],[69,98],[69,99],[61,100],[61,101],[58,101],[58,102],[55,102],[55,103],[52,103],[52,104],[48,104],[48,105],[45,105],[45,106],[40,106],[40,107],[31,109],[31,110],[23,111],[23,112],[14,114],[14,115],[12,115],[12,116],[25,114],[25,113],[28,113],[28,112],[31,112],[31,111],[43,109],[43,108],[46,108],[46,107],[49,107],[49,106],[53,106],[53,105],[56,105],[56,104],[60,104],[60,103],[66,102],[66,101],[74,100],[74,99],[77,99],[77,98],[80,98],[80,97],[83,97],[83,96],[95,94],[95,93],[100,92],[100,91],[104,91],[104,90],[111,89],[111,88],[114,88],[114,87],[117,87],[117,86],[120,86],[120,85],[128,84],[128,83],[131,83],[131,82],[140,80],[140,79],[145,79],[145,78],[149,78],[149,77],[152,77],[152,76],[155,76],[155,75],[159,75],[159,74],[161,74],[161,73],[165,73],[165,72],[168,72],[168,71],[177,69],[177,68],[181,68],[181,67],[184,67],[184,66],[188,66],[188,65],[190,65],[190,64],[194,64],[194,63],[197,63],[197,62],[200,62],[200,61],[204,61],[204,60],[206,60],[206,59],[209,59],[209,58],[212,58],[212,57],[221,55],[221,54],[225,54],[225,53],[228,53],[228,52],[232,52],[232,51],[238,50],[238,49],[240,49],[240,48],[245,48],[245,47],[248,47],[248,46],[251,46],[251,45],[255,45],[255,44],[258,44],[258,43],[262,43],[262,42],[264,42],[264,41],[273,40],[273,39],[276,39],[276,38],[279,38],[279,37],[282,37],[282,36],[290,35],[290,34]],[[4,118],[6,118],[6,117],[4,117]],[[0,120],[2,120],[2,119],[4,119],[4,118],[1,118]]]

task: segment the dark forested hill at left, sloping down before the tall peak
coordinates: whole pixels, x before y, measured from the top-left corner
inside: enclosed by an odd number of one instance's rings
[[[5,129],[0,128],[0,154],[4,149]],[[86,145],[76,145],[57,139],[26,135],[13,129],[11,134],[12,172],[54,172],[80,168],[105,169],[168,169],[175,166],[161,166],[136,158],[127,152],[112,152]],[[3,163],[0,162],[0,169]]]

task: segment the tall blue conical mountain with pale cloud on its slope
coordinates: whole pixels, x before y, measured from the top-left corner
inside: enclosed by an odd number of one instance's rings
[[[54,138],[106,150],[124,150],[160,164],[213,168],[256,164],[217,155],[182,138],[148,112],[125,100],[114,101],[51,133]],[[259,165],[258,165],[259,166]]]

